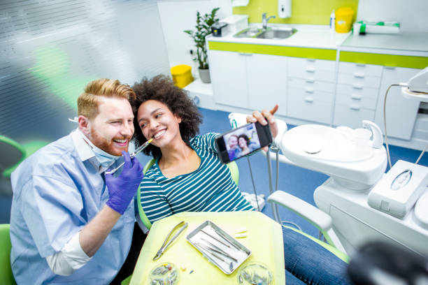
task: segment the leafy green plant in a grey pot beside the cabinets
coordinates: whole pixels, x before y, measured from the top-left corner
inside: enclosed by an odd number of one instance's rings
[[[211,25],[218,21],[215,17],[215,13],[220,8],[214,8],[210,14],[201,15],[197,11],[197,24],[196,31],[186,30],[186,34],[189,34],[193,38],[194,44],[197,47],[196,57],[194,60],[197,60],[199,63],[199,77],[202,82],[210,83],[210,71],[208,70],[208,57],[206,54],[206,42],[205,38],[211,34]]]

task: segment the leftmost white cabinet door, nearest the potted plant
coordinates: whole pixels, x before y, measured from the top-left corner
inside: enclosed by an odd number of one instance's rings
[[[245,56],[237,52],[210,50],[208,59],[215,102],[248,108]]]

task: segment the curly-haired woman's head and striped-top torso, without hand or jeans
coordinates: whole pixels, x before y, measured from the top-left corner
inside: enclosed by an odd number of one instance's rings
[[[220,162],[217,133],[197,136],[201,114],[183,89],[164,75],[134,87],[136,146],[156,162],[141,182],[141,205],[153,222],[177,212],[252,210]]]

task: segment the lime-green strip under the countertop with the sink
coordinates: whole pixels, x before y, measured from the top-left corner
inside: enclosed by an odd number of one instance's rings
[[[286,57],[303,57],[307,59],[336,60],[336,50],[309,47],[285,47],[280,45],[255,45],[250,43],[221,43],[209,41],[210,50],[228,52],[245,52],[255,54],[282,55]]]

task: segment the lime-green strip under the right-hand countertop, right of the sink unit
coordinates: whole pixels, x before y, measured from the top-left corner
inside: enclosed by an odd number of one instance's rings
[[[408,68],[425,68],[428,66],[428,57],[410,57],[405,55],[373,54],[366,52],[341,52],[339,60],[355,62],[357,64],[376,64]]]

